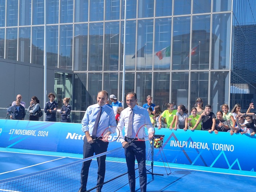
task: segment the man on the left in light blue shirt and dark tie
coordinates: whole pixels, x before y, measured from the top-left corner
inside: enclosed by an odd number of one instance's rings
[[[97,103],[91,105],[85,111],[84,118],[82,119],[82,131],[85,132],[84,137],[84,158],[92,157],[95,153],[100,154],[107,151],[108,142],[93,139],[101,136],[102,132],[109,126],[116,126],[115,114],[112,108],[106,105],[108,98],[107,91],[100,91],[97,95]],[[100,112],[101,110],[101,112]],[[99,118],[98,118],[99,117]],[[97,120],[98,118],[98,120]],[[98,124],[97,124],[98,121]],[[97,124],[97,125],[96,125]],[[96,126],[96,129],[94,128]],[[97,130],[97,131],[96,131]],[[95,135],[94,135],[95,134]],[[106,156],[97,157],[98,161],[98,179],[97,179],[97,192],[101,192],[102,183],[105,177],[105,160]],[[82,165],[81,171],[81,188],[78,192],[85,192],[88,180],[88,173],[90,161],[85,161]]]

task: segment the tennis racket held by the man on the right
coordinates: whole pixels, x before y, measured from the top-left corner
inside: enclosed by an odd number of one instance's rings
[[[155,128],[152,124],[142,125],[136,133],[135,138],[129,142],[131,144],[133,141],[148,141],[154,137]]]

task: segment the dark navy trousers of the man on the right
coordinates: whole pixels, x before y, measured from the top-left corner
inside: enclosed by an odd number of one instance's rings
[[[132,139],[127,137],[125,141]],[[135,192],[135,158],[139,165],[140,191],[147,191],[147,170],[146,170],[146,144],[144,141],[134,141],[124,149],[126,164],[128,168],[128,180],[131,192]]]

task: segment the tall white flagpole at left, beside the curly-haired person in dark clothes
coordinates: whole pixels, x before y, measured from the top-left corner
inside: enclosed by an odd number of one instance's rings
[[[44,0],[44,40],[43,40],[43,46],[44,46],[44,91],[43,91],[43,101],[44,104],[46,103],[46,70],[47,70],[47,62],[46,62],[46,0]],[[43,104],[43,105],[44,105]],[[44,107],[44,106],[43,106]],[[45,120],[46,113],[43,113],[43,121]]]

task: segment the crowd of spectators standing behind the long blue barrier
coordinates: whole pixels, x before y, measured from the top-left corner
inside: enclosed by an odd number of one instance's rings
[[[49,93],[48,97],[49,101],[45,104],[44,110],[42,109],[42,112],[44,111],[44,113],[46,113],[45,121],[81,122],[85,111],[72,111],[71,105],[69,104],[70,98],[64,98],[63,106],[59,109],[60,107],[58,107],[58,104],[54,100],[55,95]],[[236,104],[233,109],[229,111],[229,106],[223,104],[221,110],[214,114],[210,105],[203,105],[201,98],[198,98],[195,101],[195,106],[192,107],[191,110],[186,109],[184,105],[179,105],[177,106],[177,109],[174,109],[174,103],[163,102],[161,106],[155,105],[152,103],[152,99],[152,96],[148,95],[146,98],[147,103],[144,103],[143,107],[148,110],[152,125],[157,129],[183,129],[184,131],[188,129],[207,130],[209,133],[214,132],[215,134],[218,134],[218,132],[230,132],[231,135],[234,133],[248,133],[254,135],[256,131],[256,125],[249,126],[248,124],[251,122],[247,122],[246,120],[248,113],[254,109],[253,103],[249,104],[247,111],[240,111],[241,106],[239,104]],[[110,100],[112,103],[108,105],[110,107],[113,106],[116,121],[118,123],[120,112],[117,113],[117,109],[121,107],[120,110],[123,110],[123,102],[117,101],[115,95],[110,95]],[[22,101],[22,95],[18,94],[16,101],[13,101],[11,105],[5,108],[7,109],[7,113],[4,113],[1,117],[5,117],[5,119],[15,119],[16,117],[18,120],[29,119],[31,121],[43,121],[43,116],[38,116],[38,107],[40,107],[40,104],[37,97],[33,96],[31,98],[30,106],[28,108],[23,110],[23,107],[26,107],[26,103]],[[19,108],[21,110],[19,110]],[[241,112],[244,114],[241,115]],[[253,122],[253,114],[251,114],[251,116]],[[246,124],[248,126],[245,126]]]

